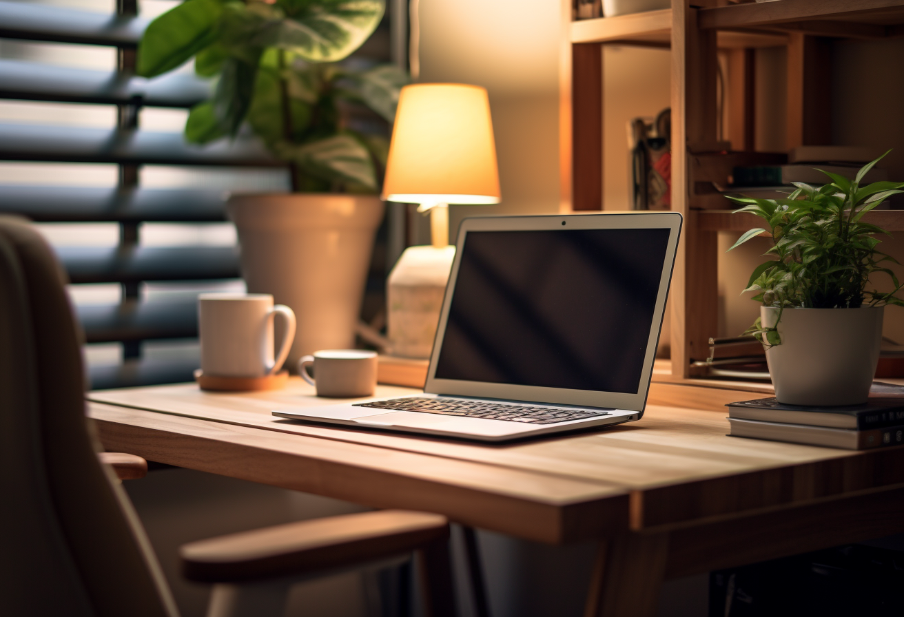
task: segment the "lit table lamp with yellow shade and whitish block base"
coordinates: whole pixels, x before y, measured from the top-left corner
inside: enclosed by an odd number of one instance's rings
[[[391,353],[429,358],[455,247],[448,204],[498,203],[499,172],[486,89],[413,84],[401,89],[381,198],[430,213],[432,246],[410,247],[387,290]]]

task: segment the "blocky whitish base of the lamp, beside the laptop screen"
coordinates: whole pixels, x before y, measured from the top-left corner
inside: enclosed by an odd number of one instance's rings
[[[391,353],[429,358],[455,247],[410,247],[392,268],[387,284]]]

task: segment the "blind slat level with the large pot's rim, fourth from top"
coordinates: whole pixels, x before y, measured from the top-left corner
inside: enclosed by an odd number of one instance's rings
[[[0,185],[0,212],[40,222],[221,221],[228,199],[228,192],[193,189]]]

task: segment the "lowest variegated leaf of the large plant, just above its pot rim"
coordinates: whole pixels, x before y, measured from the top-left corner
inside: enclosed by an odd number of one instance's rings
[[[371,154],[353,136],[343,134],[305,145],[286,146],[281,154],[295,161],[305,173],[377,190]]]

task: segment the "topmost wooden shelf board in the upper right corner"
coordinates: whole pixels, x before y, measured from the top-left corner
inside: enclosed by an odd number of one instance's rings
[[[857,38],[898,35],[902,0],[776,0],[700,9],[702,30],[778,28]]]

